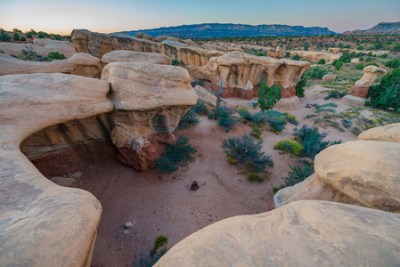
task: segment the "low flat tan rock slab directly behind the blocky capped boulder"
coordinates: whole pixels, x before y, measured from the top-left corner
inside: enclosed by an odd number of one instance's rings
[[[143,53],[127,50],[117,50],[102,56],[102,64],[105,66],[110,62],[146,62],[153,64],[171,65],[172,61],[164,54]]]

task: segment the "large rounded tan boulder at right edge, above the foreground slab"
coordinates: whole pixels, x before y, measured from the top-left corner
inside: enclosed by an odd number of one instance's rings
[[[363,206],[400,212],[400,143],[356,141],[322,150],[314,171]]]

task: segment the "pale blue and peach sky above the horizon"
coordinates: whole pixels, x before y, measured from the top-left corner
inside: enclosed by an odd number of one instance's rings
[[[0,28],[69,35],[200,23],[287,24],[341,33],[400,21],[400,0],[0,0]]]

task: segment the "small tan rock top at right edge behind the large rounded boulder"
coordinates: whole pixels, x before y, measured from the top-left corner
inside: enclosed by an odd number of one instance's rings
[[[400,123],[369,129],[358,135],[357,139],[383,142],[400,142]]]

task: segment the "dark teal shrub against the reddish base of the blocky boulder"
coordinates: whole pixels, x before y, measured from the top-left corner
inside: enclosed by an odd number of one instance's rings
[[[178,166],[182,166],[184,162],[194,160],[197,150],[188,143],[189,138],[181,135],[175,143],[168,146],[161,158],[156,158],[157,169],[160,174],[176,171]]]

